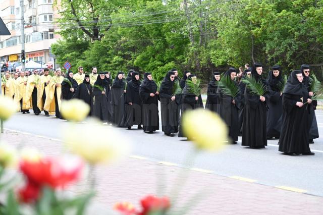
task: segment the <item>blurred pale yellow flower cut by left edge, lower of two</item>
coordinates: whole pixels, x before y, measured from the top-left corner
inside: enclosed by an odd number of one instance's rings
[[[16,149],[6,143],[0,143],[0,166],[3,168],[15,167],[18,163]]]

